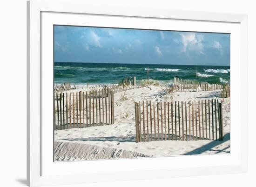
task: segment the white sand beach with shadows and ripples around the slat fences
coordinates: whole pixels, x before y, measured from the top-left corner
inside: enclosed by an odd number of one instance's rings
[[[135,102],[222,100],[223,141],[160,140],[135,142]],[[221,91],[166,93],[166,87],[146,86],[115,93],[115,123],[112,125],[68,128],[54,131],[54,157],[61,160],[175,156],[230,153],[230,103]]]

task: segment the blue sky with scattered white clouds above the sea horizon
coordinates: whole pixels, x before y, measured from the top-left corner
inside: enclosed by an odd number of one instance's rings
[[[54,26],[55,62],[229,66],[229,34]]]

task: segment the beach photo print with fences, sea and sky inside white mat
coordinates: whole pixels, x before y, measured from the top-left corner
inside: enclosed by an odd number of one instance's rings
[[[54,161],[230,153],[230,34],[54,25]]]

